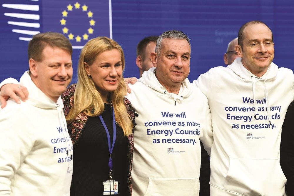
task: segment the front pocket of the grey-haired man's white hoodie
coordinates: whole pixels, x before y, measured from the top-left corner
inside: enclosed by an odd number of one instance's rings
[[[160,195],[199,195],[199,180],[194,179],[170,179],[149,178],[145,196]]]

